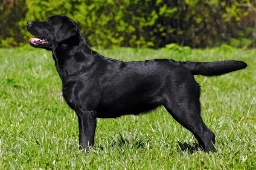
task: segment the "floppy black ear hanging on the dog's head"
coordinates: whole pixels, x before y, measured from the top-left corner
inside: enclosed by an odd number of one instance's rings
[[[77,29],[77,26],[72,21],[65,18],[60,29],[58,30],[55,41],[59,43],[69,39],[70,37],[76,36]]]

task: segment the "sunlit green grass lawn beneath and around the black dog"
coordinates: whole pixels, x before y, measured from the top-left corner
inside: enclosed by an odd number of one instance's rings
[[[196,76],[202,118],[216,135],[216,152],[197,141],[164,108],[98,119],[95,147],[79,151],[76,113],[64,102],[49,51],[0,49],[0,170],[3,169],[256,169],[256,50],[97,50],[124,61],[237,59],[248,67],[219,77]]]

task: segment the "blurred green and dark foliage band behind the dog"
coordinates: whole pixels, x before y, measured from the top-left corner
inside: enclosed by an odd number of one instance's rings
[[[0,47],[28,43],[26,21],[73,18],[92,46],[256,45],[256,0],[0,0]]]

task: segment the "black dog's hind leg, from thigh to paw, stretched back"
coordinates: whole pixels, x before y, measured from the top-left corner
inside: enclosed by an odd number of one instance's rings
[[[164,107],[180,125],[194,134],[205,152],[213,152],[215,150],[215,135],[201,119],[199,96],[199,85],[189,83],[177,89],[175,95],[168,97]]]

